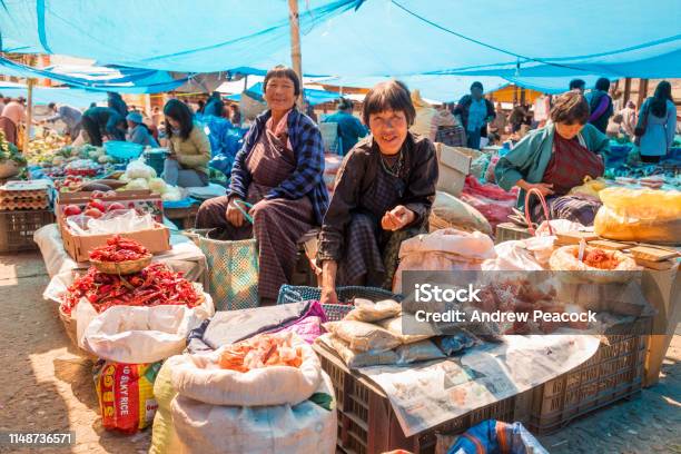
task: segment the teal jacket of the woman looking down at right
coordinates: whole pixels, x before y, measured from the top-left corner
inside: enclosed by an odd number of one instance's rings
[[[549,124],[523,137],[496,162],[494,168],[496,184],[505,190],[511,190],[521,179],[531,184],[541,182],[553,154],[554,134],[555,125]],[[598,155],[604,156],[610,150],[610,140],[593,125],[584,125],[578,139],[580,144]],[[525,191],[522,189],[517,196],[517,206],[520,208],[525,206]]]

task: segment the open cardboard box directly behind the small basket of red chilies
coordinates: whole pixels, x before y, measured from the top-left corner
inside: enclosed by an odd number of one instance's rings
[[[89,261],[90,250],[107,244],[108,235],[76,235],[66,225],[61,228],[63,248],[76,261]],[[156,228],[120,234],[121,237],[131,238],[145,246],[151,254],[165,253],[171,249],[170,230],[168,227],[157,224]]]

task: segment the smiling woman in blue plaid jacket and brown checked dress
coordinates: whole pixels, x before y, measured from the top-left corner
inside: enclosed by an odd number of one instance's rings
[[[256,118],[235,157],[229,194],[205,201],[196,227],[217,228],[225,239],[255,236],[261,305],[274,304],[289,284],[297,241],[322,223],[328,206],[324,184],[324,145],[313,120],[298,111],[300,80],[293,69],[276,67],[263,82],[269,110]],[[243,201],[253,204],[245,218]],[[211,235],[213,237],[214,235]]]

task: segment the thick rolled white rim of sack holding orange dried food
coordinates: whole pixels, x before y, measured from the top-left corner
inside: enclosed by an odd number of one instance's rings
[[[184,397],[211,405],[296,405],[309,398],[322,381],[322,365],[312,347],[297,336],[299,367],[269,366],[237,372],[220,368],[221,348],[182,355],[172,368],[172,386]]]

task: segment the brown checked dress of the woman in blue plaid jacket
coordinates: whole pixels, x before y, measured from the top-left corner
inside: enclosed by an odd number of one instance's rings
[[[284,145],[286,141],[285,134],[277,137],[266,129],[244,162],[253,178],[246,201],[257,204],[253,226],[245,223],[235,227],[227,221],[228,196],[205,201],[196,219],[197,228],[217,227],[225,239],[255,237],[260,268],[258,293],[261,300],[272,303],[276,300],[279,287],[290,283],[298,253],[297,241],[314,224],[309,197],[267,199],[272,188],[285,181],[296,169],[295,154]]]

